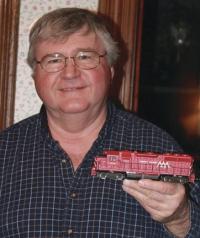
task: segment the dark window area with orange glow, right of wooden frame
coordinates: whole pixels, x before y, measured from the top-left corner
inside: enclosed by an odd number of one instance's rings
[[[145,0],[138,114],[200,155],[200,1]]]

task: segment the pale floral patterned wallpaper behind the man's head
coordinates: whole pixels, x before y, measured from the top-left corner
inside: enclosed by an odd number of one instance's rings
[[[21,0],[15,122],[37,113],[41,106],[41,101],[35,92],[31,70],[26,63],[30,26],[44,13],[60,7],[81,7],[97,10],[98,0]]]

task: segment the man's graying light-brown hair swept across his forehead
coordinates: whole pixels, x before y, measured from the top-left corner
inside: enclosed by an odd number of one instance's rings
[[[107,60],[113,65],[119,56],[117,43],[106,28],[102,17],[86,9],[60,8],[39,18],[31,28],[27,62],[31,68],[35,65],[34,49],[39,41],[62,40],[87,27],[87,33],[95,32],[107,52]]]

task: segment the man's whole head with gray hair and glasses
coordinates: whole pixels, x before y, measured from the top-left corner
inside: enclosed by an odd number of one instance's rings
[[[52,11],[30,32],[28,62],[35,87],[57,117],[105,111],[117,57],[104,21],[88,10]]]

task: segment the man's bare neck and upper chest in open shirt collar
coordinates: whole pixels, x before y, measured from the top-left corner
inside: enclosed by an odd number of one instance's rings
[[[75,115],[74,117],[66,116],[65,120],[63,118],[58,120],[47,114],[52,137],[59,142],[62,149],[69,155],[75,170],[97,139],[105,123],[106,114],[106,108],[92,118]]]

